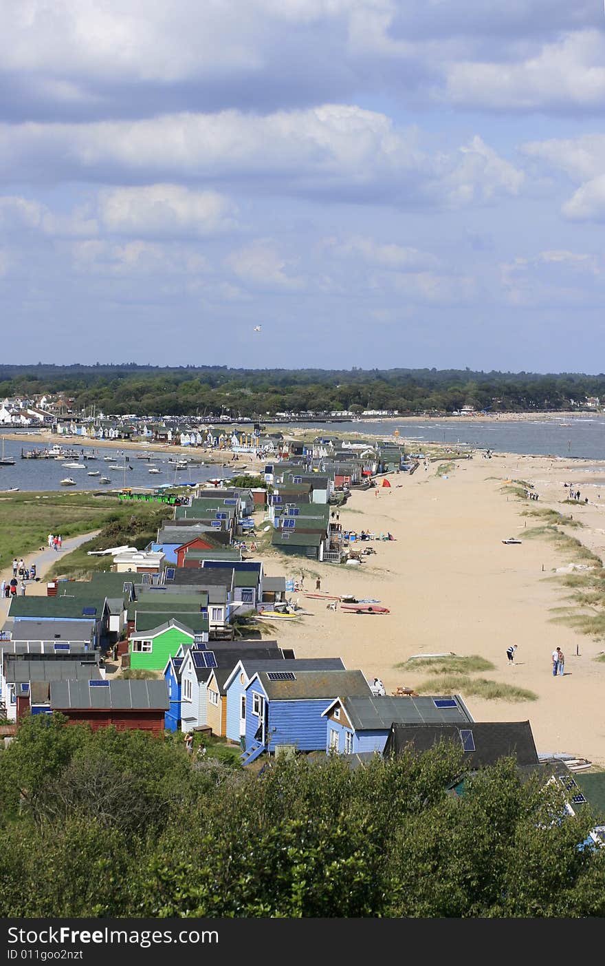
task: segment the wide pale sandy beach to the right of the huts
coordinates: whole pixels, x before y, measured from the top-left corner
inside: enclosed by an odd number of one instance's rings
[[[298,597],[312,615],[281,621],[281,642],[297,657],[341,656],[347,668],[361,668],[371,680],[382,678],[387,694],[399,686],[414,687],[428,676],[426,668],[397,668],[416,654],[481,655],[494,665],[479,675],[529,689],[536,700],[487,700],[460,693],[477,721],[531,722],[538,752],[586,756],[605,767],[605,723],[602,713],[605,664],[593,659],[604,644],[562,623],[555,609],[569,606],[555,571],[571,561],[542,537],[523,539],[523,530],[540,521],[524,510],[552,507],[585,525],[568,527],[594,553],[605,550],[605,473],[603,486],[594,480],[594,461],[554,460],[475,454],[437,475],[438,463],[410,477],[390,474],[391,489],[357,491],[341,511],[345,529],[374,533],[387,530],[395,541],[363,543],[376,551],[360,567],[302,561],[266,554],[265,572],[305,573],[304,589],[376,598],[388,614],[358,615],[326,610],[326,602]],[[605,464],[603,465],[605,469]],[[583,474],[584,482],[583,482]],[[505,480],[534,485],[537,500],[507,496]],[[564,482],[573,483],[588,504],[562,505]],[[599,496],[600,493],[600,496]],[[600,505],[601,500],[603,506]],[[516,536],[520,545],[502,540]],[[301,567],[302,564],[302,567]],[[515,661],[506,649],[517,643]],[[551,653],[561,646],[564,676],[553,677]]]

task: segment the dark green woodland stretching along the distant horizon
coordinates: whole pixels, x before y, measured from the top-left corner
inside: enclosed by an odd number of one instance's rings
[[[572,409],[605,398],[605,375],[474,372],[470,369],[231,369],[227,366],[0,366],[0,397],[60,393],[72,412],[125,415],[277,412],[448,413]]]

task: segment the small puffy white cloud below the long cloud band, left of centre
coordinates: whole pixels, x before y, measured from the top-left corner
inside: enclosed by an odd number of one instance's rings
[[[233,230],[235,206],[217,191],[144,185],[102,191],[99,215],[112,233],[144,238],[205,237]]]

